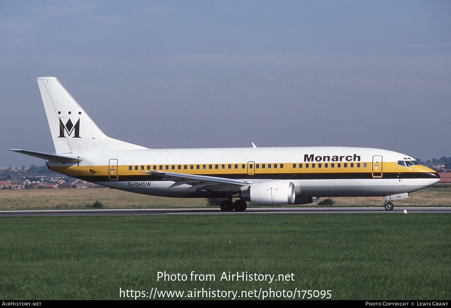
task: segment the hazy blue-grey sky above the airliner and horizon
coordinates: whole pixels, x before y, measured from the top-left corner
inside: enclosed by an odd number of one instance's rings
[[[147,147],[451,156],[450,1],[1,1],[0,29],[0,149],[54,151],[36,82],[54,76]]]

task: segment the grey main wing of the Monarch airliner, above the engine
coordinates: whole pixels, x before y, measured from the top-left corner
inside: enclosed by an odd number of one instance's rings
[[[246,186],[251,183],[243,180],[175,172],[145,171],[140,173],[147,173],[153,176],[161,177],[166,181],[175,181],[175,183],[169,187],[180,186],[183,184],[191,185],[188,190],[202,189],[212,191],[237,191],[240,190],[242,186]]]

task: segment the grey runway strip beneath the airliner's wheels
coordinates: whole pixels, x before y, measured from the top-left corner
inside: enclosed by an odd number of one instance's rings
[[[152,208],[152,209],[83,209],[83,210],[36,210],[0,211],[0,217],[25,216],[125,216],[125,215],[255,215],[255,214],[402,214],[451,213],[446,208],[248,208],[245,212],[221,212],[219,208]]]

